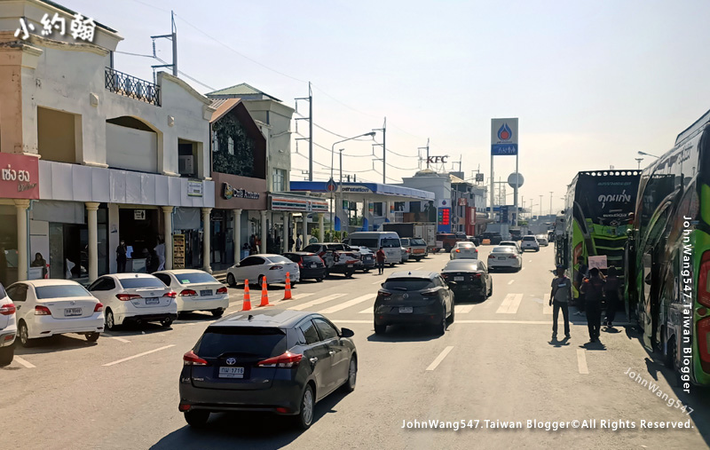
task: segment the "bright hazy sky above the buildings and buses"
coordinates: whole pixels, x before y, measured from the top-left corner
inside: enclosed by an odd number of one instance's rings
[[[150,36],[170,33],[174,11],[178,69],[202,84],[180,76],[201,93],[249,83],[295,107],[311,82],[313,122],[326,129],[313,132],[326,147],[314,146],[316,180],[329,178],[329,149],[341,140],[333,133],[381,129],[386,116],[388,183],[425,167],[419,148],[428,139],[430,155],[456,161],[438,170],[460,161],[466,178],[480,170],[487,181],[491,118],[517,117],[521,201],[537,213],[543,195],[546,214],[550,198],[563,208],[578,171],[636,169],[637,152],[663,154],[710,109],[706,0],[57,1],[118,30],[118,51],[144,55]],[[170,42],[156,45],[170,61]],[[156,64],[115,56],[116,69],[148,80]],[[308,114],[307,102],[297,107]],[[304,136],[294,137],[307,137],[298,122]],[[373,143],[336,146],[343,173],[382,182]],[[291,179],[307,179],[307,142],[294,142],[292,154]],[[515,160],[494,158],[496,181]]]

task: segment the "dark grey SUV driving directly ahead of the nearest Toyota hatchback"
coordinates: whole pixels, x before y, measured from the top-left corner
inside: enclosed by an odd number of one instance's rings
[[[383,282],[375,298],[375,333],[388,325],[423,323],[439,335],[454,322],[454,294],[437,272],[394,272]]]

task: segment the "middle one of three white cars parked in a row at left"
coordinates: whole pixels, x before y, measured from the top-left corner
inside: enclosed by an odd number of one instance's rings
[[[107,329],[130,322],[161,322],[168,328],[177,319],[177,292],[148,273],[103,275],[89,292],[104,304]]]

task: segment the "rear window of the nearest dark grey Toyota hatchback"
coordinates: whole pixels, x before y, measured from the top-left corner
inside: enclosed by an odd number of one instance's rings
[[[227,353],[270,358],[286,350],[286,331],[280,328],[209,327],[194,352],[202,358],[218,358]]]

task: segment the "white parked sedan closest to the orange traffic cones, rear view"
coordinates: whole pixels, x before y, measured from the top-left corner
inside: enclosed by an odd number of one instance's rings
[[[154,272],[158,280],[177,292],[177,313],[209,311],[220,317],[229,307],[229,294],[224,284],[208,272],[193,269]]]

